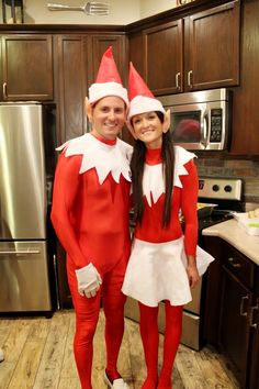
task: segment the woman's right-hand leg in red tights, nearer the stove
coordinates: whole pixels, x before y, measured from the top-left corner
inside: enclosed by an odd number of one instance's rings
[[[182,305],[166,305],[166,331],[164,338],[164,362],[158,389],[171,389],[171,373],[182,333]]]

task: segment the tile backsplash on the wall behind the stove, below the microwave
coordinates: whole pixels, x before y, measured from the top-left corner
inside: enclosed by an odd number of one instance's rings
[[[195,158],[199,176],[241,178],[245,202],[259,202],[259,160]]]

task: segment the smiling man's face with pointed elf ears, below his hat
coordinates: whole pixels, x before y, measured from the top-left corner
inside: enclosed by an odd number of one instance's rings
[[[93,134],[113,141],[126,120],[125,102],[115,96],[105,97],[88,108],[88,118],[92,123]]]

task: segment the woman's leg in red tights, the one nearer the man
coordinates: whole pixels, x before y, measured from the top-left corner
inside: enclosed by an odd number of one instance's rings
[[[147,378],[142,389],[155,389],[158,379],[158,307],[147,307],[139,302],[140,335],[144,347]]]

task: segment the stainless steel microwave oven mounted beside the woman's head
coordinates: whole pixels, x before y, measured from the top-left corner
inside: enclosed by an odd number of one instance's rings
[[[170,109],[173,144],[223,151],[230,141],[232,91],[225,88],[158,97]]]

